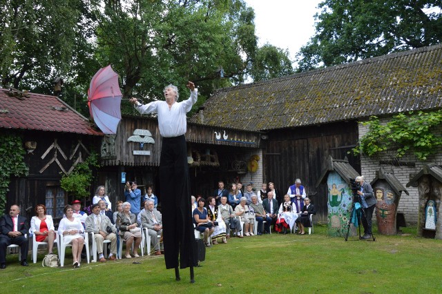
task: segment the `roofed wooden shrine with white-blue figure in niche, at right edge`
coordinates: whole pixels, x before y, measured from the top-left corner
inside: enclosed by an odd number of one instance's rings
[[[425,164],[407,187],[417,183],[419,192],[419,221],[417,233],[422,237],[442,239],[441,197],[442,168],[436,164]]]

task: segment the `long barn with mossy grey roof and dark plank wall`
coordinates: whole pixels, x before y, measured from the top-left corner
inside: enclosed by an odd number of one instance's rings
[[[438,45],[220,89],[204,104],[204,124],[263,133],[263,181],[286,193],[301,179],[316,219],[327,222],[327,187],[315,187],[327,158],[347,156],[361,173],[361,160],[349,153],[360,121],[440,109],[441,60]]]

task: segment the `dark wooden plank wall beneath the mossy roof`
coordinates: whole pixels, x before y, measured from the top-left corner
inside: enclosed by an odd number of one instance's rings
[[[263,155],[265,182],[274,182],[285,194],[300,178],[315,205],[315,220],[327,222],[327,187],[315,185],[329,155],[334,159],[348,157],[349,163],[361,171],[359,159],[347,154],[356,144],[357,132],[356,121],[271,131]]]

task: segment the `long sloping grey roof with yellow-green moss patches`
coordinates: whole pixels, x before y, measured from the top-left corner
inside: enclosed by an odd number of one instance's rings
[[[442,106],[442,45],[217,90],[204,124],[272,130]],[[198,114],[190,119],[199,121]]]

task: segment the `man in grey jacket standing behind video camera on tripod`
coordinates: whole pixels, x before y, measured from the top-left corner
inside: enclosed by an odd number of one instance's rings
[[[364,226],[364,235],[361,239],[370,239],[372,237],[372,217],[376,204],[373,188],[370,184],[365,183],[364,177],[359,176],[354,180],[358,183],[358,195],[361,197],[361,206],[363,206],[364,215],[361,217]]]

